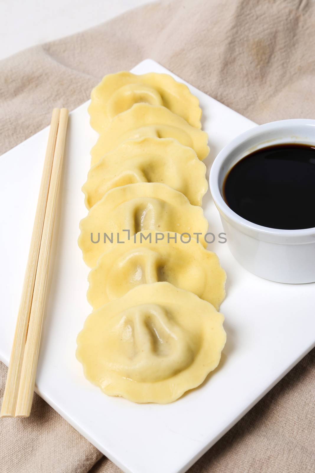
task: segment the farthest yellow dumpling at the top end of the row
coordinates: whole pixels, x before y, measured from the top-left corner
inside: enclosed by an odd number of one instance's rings
[[[168,74],[136,75],[131,72],[108,74],[91,93],[89,114],[91,126],[101,133],[118,114],[132,105],[147,103],[164,105],[184,118],[191,126],[201,128],[199,100]]]

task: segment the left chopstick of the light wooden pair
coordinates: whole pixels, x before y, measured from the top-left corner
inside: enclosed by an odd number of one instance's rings
[[[26,344],[27,328],[32,306],[36,269],[42,240],[43,224],[45,219],[49,186],[51,181],[51,169],[56,145],[59,117],[60,109],[55,108],[52,111],[51,116],[51,126],[43,166],[41,187],[38,196],[31,245],[26,265],[21,302],[17,315],[17,325],[14,334],[9,370],[7,375],[6,387],[3,395],[0,417],[14,417],[15,415],[18,386],[24,356],[24,348]]]

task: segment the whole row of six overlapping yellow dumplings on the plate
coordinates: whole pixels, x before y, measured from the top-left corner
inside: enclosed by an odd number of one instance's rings
[[[106,394],[169,403],[204,381],[226,339],[225,272],[216,254],[179,238],[208,229],[202,112],[166,74],[110,74],[91,98],[99,139],[78,244],[93,312],[77,359]]]

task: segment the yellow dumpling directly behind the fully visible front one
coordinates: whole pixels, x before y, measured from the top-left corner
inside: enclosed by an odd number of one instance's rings
[[[146,239],[151,233],[150,239]],[[168,238],[168,235],[170,238]],[[167,281],[194,292],[218,310],[225,297],[225,271],[219,258],[192,238],[184,243],[175,233],[143,232],[111,246],[89,274],[87,300],[95,309],[118,299],[139,284]],[[162,239],[163,238],[163,239]],[[187,241],[187,239],[186,239]]]

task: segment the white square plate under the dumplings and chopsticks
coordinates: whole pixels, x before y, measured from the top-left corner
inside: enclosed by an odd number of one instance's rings
[[[170,73],[152,60],[133,69],[137,74],[152,71]],[[209,168],[224,145],[255,123],[189,88],[203,109],[211,147],[205,161]],[[228,278],[221,305],[227,343],[219,367],[200,388],[168,405],[140,405],[102,394],[85,380],[75,358],[77,333],[91,311],[85,296],[88,269],[77,246],[79,220],[87,213],[81,186],[97,139],[87,106],[88,102],[70,114],[37,392],[124,472],[185,472],[314,346],[315,284],[260,279],[234,260],[227,244],[216,240],[208,248],[217,252]],[[6,364],[47,137],[46,128],[1,158],[0,359]],[[218,235],[221,221],[209,192],[203,207],[209,231]]]

